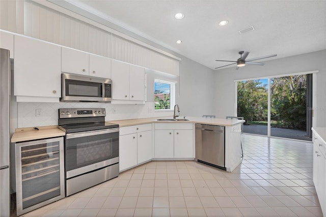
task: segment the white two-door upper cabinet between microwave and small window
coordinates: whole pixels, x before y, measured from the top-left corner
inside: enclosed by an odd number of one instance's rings
[[[112,102],[144,103],[145,69],[143,67],[112,60],[111,70]]]

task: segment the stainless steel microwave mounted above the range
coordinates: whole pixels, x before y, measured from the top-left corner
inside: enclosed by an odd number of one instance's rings
[[[112,80],[77,74],[61,74],[60,101],[110,102],[112,100]]]

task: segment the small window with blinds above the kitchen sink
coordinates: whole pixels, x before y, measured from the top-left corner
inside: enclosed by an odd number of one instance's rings
[[[173,110],[175,105],[176,83],[167,80],[154,79],[155,111]]]

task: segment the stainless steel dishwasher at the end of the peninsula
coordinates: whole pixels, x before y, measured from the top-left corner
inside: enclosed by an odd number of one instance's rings
[[[225,127],[196,124],[196,157],[198,162],[226,170]]]

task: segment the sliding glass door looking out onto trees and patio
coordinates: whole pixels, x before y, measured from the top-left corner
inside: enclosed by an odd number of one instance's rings
[[[237,82],[237,116],[244,133],[311,141],[310,74]]]

